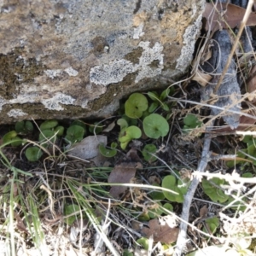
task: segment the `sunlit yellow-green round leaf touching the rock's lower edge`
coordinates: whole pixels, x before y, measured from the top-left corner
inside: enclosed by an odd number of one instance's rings
[[[125,114],[131,119],[139,119],[148,109],[148,100],[142,93],[133,93],[125,102]]]

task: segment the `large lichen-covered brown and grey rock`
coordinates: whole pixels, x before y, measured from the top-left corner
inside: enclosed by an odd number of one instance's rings
[[[105,117],[189,67],[205,0],[0,1],[0,122]]]

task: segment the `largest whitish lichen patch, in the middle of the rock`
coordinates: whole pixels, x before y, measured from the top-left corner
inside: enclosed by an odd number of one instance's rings
[[[140,42],[138,47],[143,48],[143,52],[139,57],[138,63],[132,63],[125,59],[115,60],[108,64],[92,67],[90,69],[90,82],[94,84],[115,84],[121,82],[129,73],[138,72],[135,83],[144,78],[153,78],[161,73],[163,69],[163,46],[155,43],[152,48],[149,42]],[[159,61],[157,68],[151,68],[149,65],[153,61]]]

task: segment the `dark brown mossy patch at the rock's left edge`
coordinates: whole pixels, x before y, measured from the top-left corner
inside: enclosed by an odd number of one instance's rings
[[[7,100],[19,93],[17,86],[32,82],[45,69],[35,58],[26,60],[22,54],[22,48],[16,48],[7,55],[0,54],[0,95]]]

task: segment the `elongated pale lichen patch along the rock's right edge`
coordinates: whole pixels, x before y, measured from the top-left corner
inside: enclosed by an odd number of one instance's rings
[[[181,50],[181,55],[177,59],[176,68],[184,72],[188,63],[192,61],[193,52],[195,49],[195,40],[198,38],[201,29],[201,15],[195,20],[194,24],[187,27],[183,35],[183,48]]]

